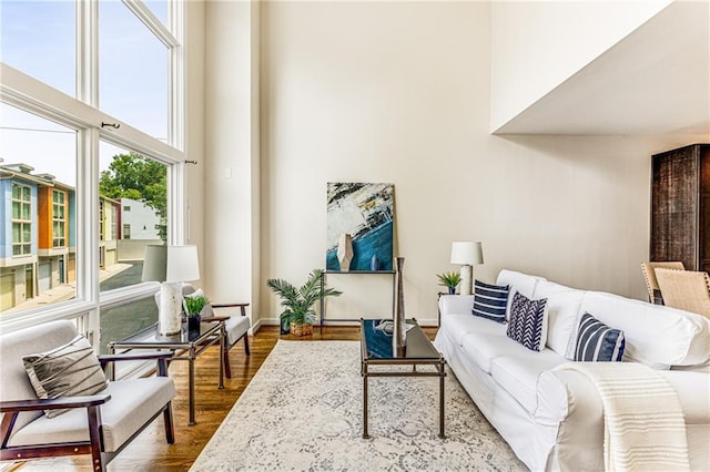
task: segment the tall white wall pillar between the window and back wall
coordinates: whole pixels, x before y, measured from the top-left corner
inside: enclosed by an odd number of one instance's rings
[[[258,312],[258,2],[205,9],[205,293]]]

